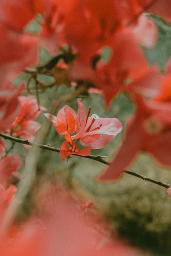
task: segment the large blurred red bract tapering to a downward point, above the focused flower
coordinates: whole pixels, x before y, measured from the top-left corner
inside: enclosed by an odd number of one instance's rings
[[[119,91],[127,90],[132,82],[141,81],[149,71],[137,39],[129,30],[122,29],[115,33],[112,49],[110,61],[107,64],[98,62],[95,71],[95,83],[103,90],[107,106]]]

